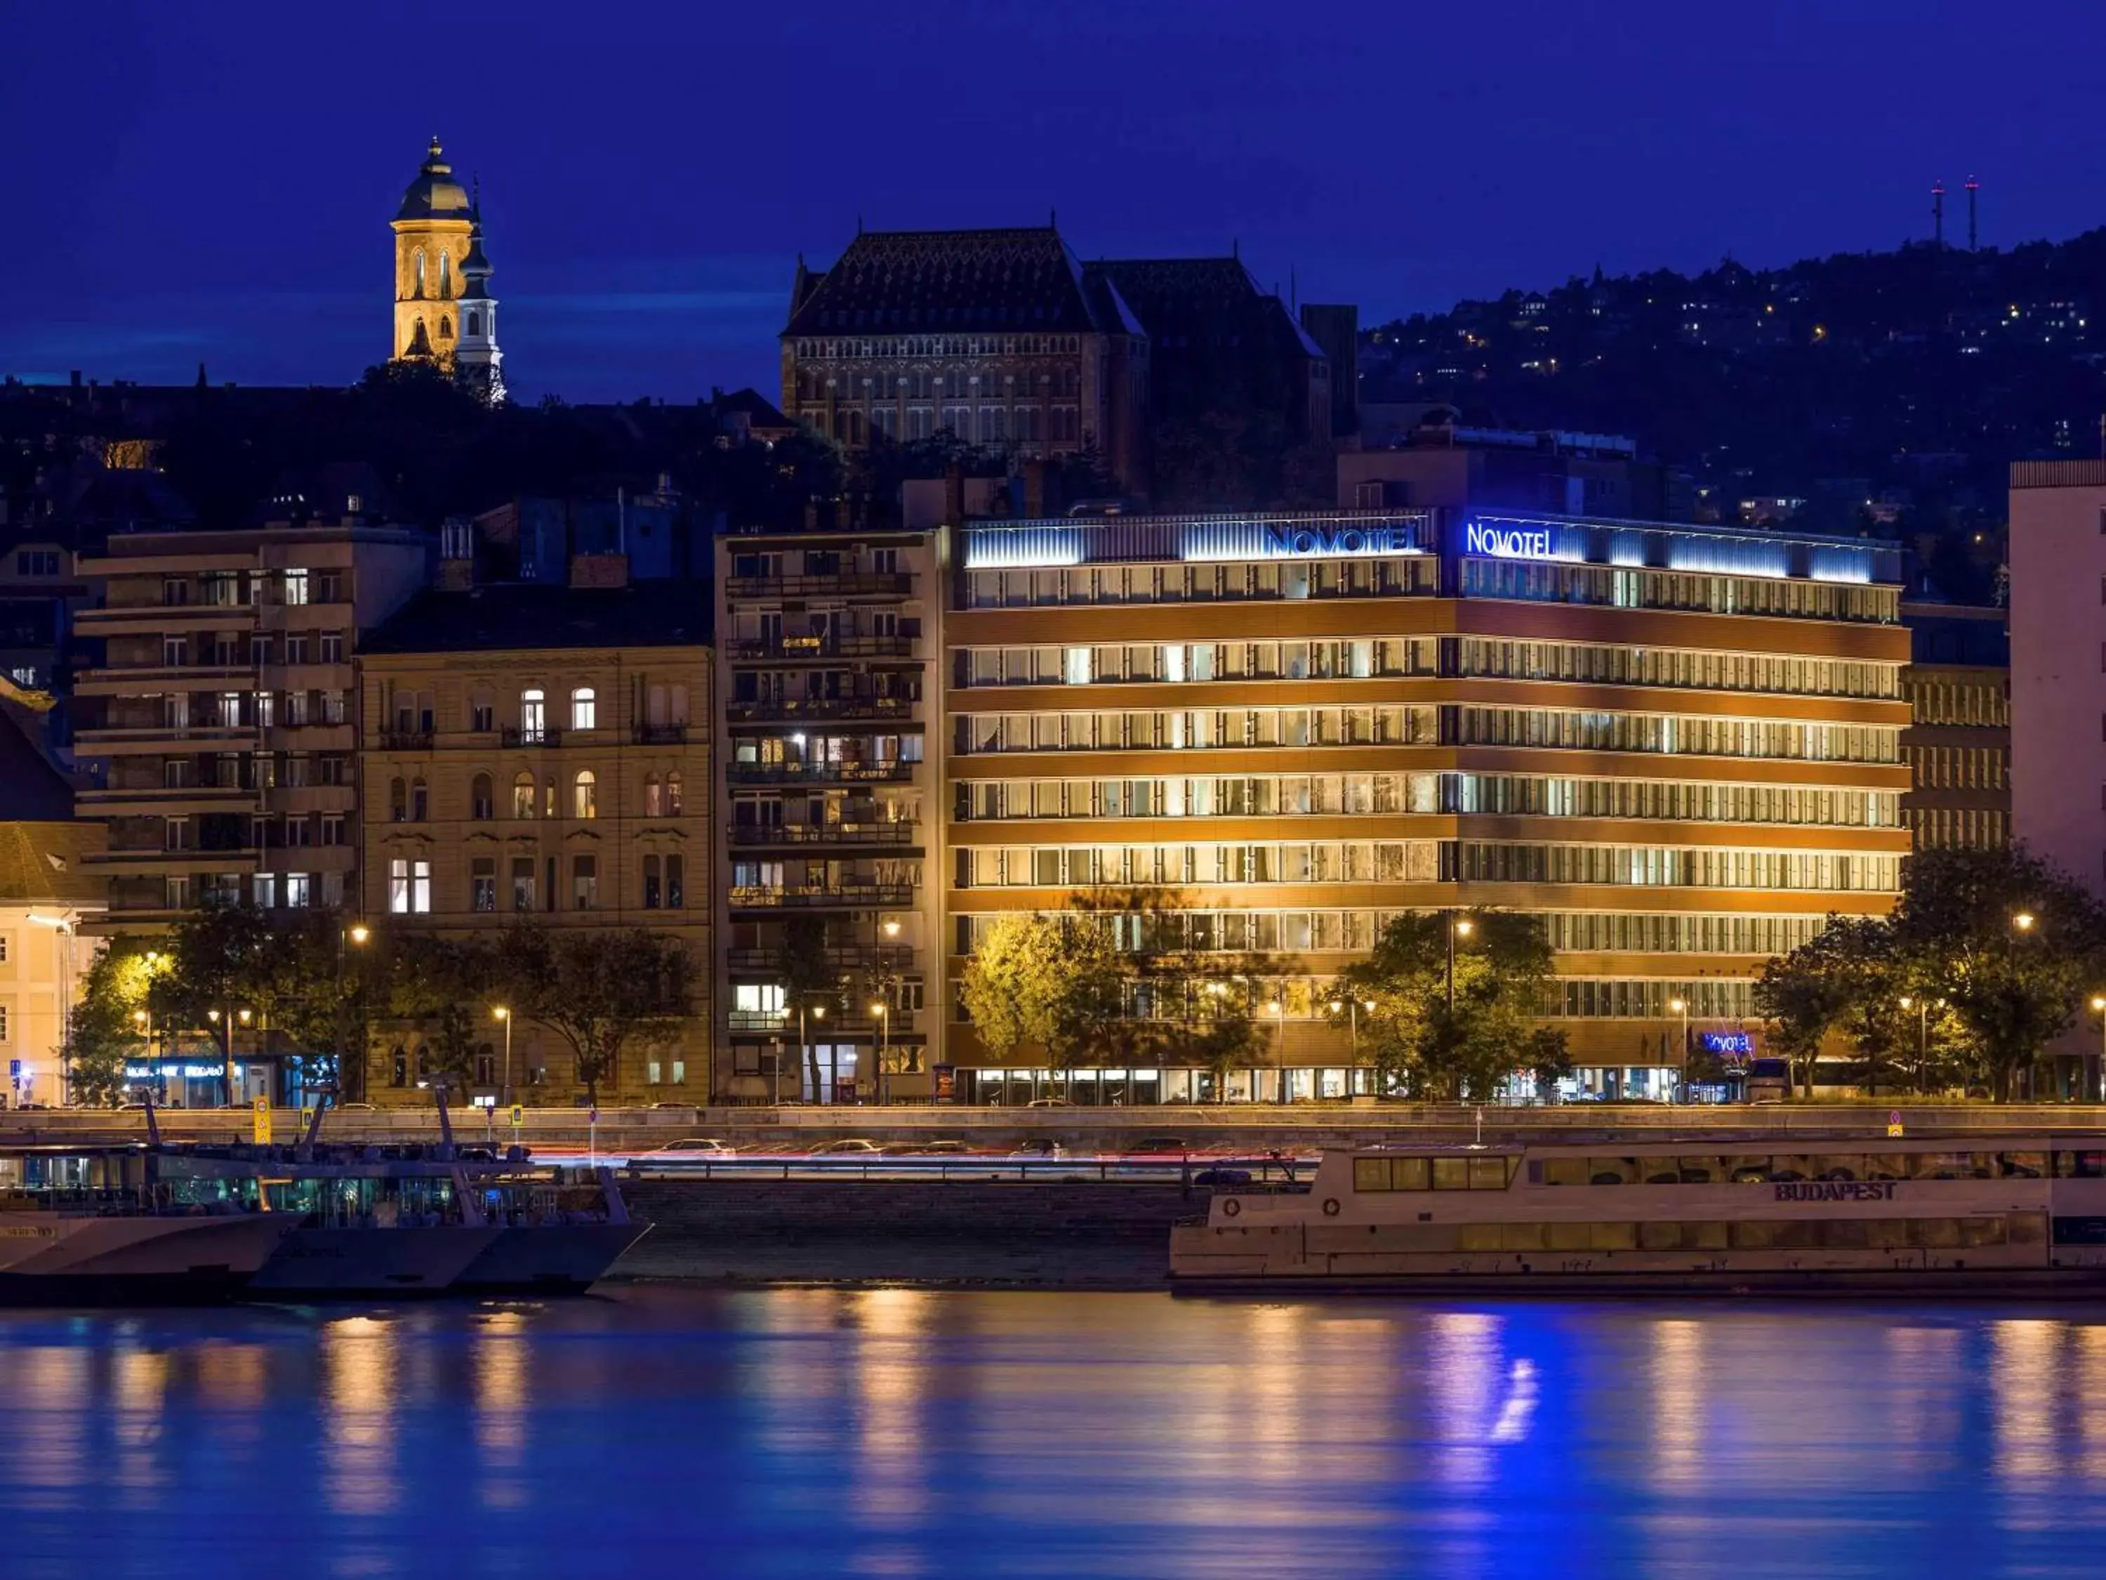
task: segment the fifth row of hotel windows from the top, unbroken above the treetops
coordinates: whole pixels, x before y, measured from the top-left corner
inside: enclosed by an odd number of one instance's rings
[[[1487,841],[975,847],[956,853],[960,889],[1097,883],[1590,883],[1891,893],[1900,885],[1900,857]]]

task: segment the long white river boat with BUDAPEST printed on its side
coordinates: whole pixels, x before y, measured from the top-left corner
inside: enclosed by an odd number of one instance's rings
[[[1190,1289],[2100,1293],[2100,1138],[1377,1146],[1171,1230]]]

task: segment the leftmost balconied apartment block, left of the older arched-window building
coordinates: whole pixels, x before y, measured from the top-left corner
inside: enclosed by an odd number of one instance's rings
[[[114,535],[80,575],[78,815],[110,931],[198,904],[343,906],[358,895],[352,661],[428,575],[423,533],[329,525]]]

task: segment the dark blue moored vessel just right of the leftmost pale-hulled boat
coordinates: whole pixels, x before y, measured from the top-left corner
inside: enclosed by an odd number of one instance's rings
[[[579,1293],[651,1228],[630,1218],[611,1169],[451,1144],[164,1146],[160,1173],[179,1201],[289,1222],[249,1281],[253,1300]]]

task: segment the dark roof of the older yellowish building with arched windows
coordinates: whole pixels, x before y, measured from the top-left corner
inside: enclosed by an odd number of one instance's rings
[[[520,653],[537,647],[708,647],[706,581],[564,588],[508,581],[423,592],[371,636],[360,655]]]

